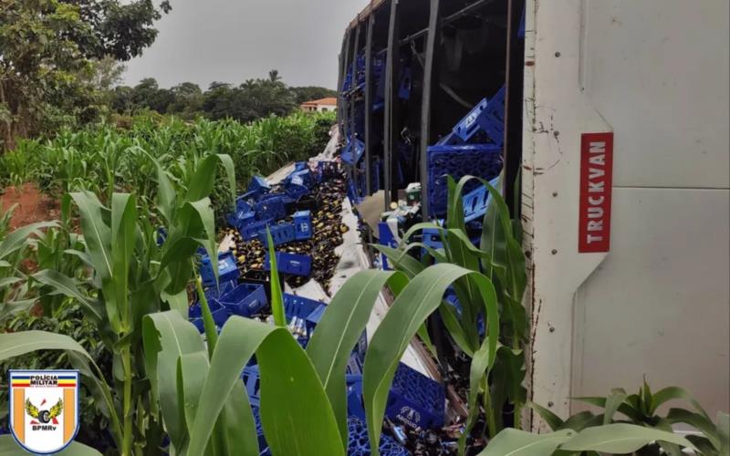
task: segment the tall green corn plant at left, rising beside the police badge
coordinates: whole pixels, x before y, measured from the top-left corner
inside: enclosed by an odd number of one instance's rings
[[[83,252],[71,254],[83,259],[93,275],[79,283],[76,277],[47,269],[33,278],[54,293],[75,299],[99,326],[99,336],[113,356],[112,378],[105,378],[94,359],[70,337],[38,331],[0,335],[2,359],[37,349],[66,349],[110,420],[111,435],[122,455],[154,452],[162,443],[159,410],[145,388],[142,317],[165,309],[187,315],[186,289],[193,277],[195,250],[202,245],[212,257],[216,253],[207,195],[213,191],[219,163],[233,182],[230,158],[211,155],[190,181],[181,183],[183,193],[176,192],[167,172],[158,166],[158,206],[168,231],[160,245],[156,227],[148,214],[138,212],[133,195],[113,193],[108,208],[93,193],[71,193],[85,246]],[[217,264],[213,264],[217,275]]]

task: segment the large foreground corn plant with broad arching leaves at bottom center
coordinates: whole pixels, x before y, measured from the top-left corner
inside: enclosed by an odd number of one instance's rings
[[[270,246],[273,242],[268,243]],[[270,248],[269,257],[274,260]],[[272,262],[276,271],[276,262]],[[145,356],[152,390],[176,454],[258,454],[254,418],[241,372],[255,355],[261,374],[261,420],[274,454],[344,455],[348,444],[345,369],[385,285],[397,295],[370,340],[363,396],[370,448],[378,454],[381,423],[395,370],[422,322],[446,288],[474,277],[489,316],[485,352],[495,358],[499,332],[495,290],[478,272],[437,264],[408,281],[401,272],[362,271],[339,290],[306,350],[284,327],[276,274],[272,310],[276,326],[232,316],[220,337],[206,310],[207,347],[195,327],[174,312],[145,317]],[[156,375],[155,375],[156,374]]]

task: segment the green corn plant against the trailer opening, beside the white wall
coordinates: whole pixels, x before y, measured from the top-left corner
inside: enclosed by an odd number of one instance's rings
[[[480,409],[477,404],[480,391],[483,400],[481,408],[485,411],[487,433],[490,437],[494,437],[504,427],[501,410],[506,402],[514,406],[515,425],[519,427],[519,416],[527,399],[526,389],[522,385],[525,378],[524,347],[528,338],[527,313],[522,306],[522,297],[527,285],[527,273],[525,254],[520,245],[520,231],[518,223],[511,220],[501,194],[489,182],[479,179],[486,186],[492,202],[483,220],[480,246],[474,246],[466,234],[462,202],[464,185],[474,179],[476,178],[466,176],[456,183],[451,177],[448,178],[445,226],[417,223],[404,234],[398,249],[374,245],[388,257],[393,267],[408,277],[419,274],[425,267],[410,255],[414,249],[418,249],[418,252],[423,249],[427,257],[435,262],[458,264],[471,271],[480,271],[495,285],[496,299],[501,309],[501,328],[499,346],[494,356],[485,349],[487,339],[480,340],[477,331],[480,318],[485,318],[487,326],[490,322],[481,308],[473,277],[463,277],[454,283],[454,291],[462,307],[460,315],[445,301],[439,306],[443,325],[456,347],[472,358],[467,398],[469,417],[464,436],[460,440],[461,451],[464,451],[466,436]],[[428,245],[410,242],[415,233],[426,228],[440,233],[443,249],[434,250]],[[422,329],[421,334],[425,336],[425,329]],[[428,343],[427,337],[423,338]]]

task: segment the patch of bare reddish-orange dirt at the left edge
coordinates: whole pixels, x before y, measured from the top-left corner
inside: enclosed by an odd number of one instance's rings
[[[19,189],[7,187],[0,193],[0,213],[10,209],[13,204],[17,204],[17,207],[10,219],[11,230],[28,223],[58,218],[58,202],[39,192],[32,183],[24,183]]]

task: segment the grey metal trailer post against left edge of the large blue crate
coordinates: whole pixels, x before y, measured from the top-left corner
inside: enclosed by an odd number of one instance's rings
[[[428,201],[428,146],[432,141],[431,134],[431,100],[433,99],[433,68],[435,67],[436,38],[441,20],[441,0],[431,0],[431,13],[428,19],[428,35],[423,52],[426,55],[423,64],[423,98],[421,103],[421,211],[423,221],[429,218]]]

